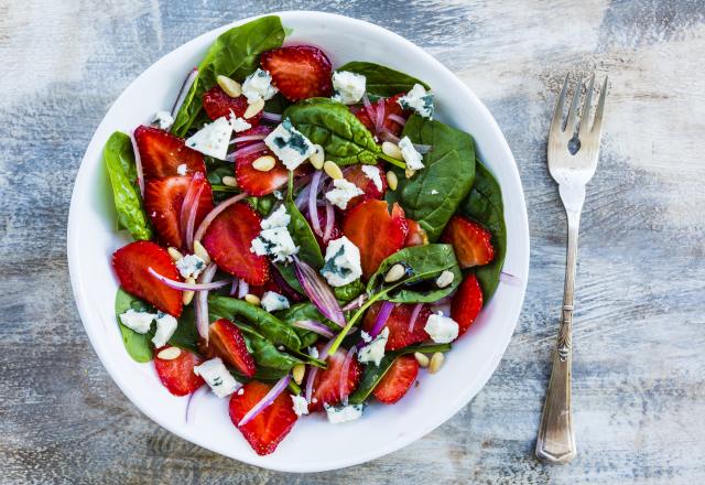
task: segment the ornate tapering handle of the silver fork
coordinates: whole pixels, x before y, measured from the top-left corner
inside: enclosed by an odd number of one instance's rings
[[[536,456],[550,463],[567,463],[577,454],[571,406],[571,373],[573,366],[573,294],[579,211],[567,212],[567,219],[568,245],[561,326],[553,353],[551,381],[536,440]]]

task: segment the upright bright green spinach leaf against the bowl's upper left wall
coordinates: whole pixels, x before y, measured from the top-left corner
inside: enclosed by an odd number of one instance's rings
[[[134,239],[151,239],[152,227],[142,206],[130,137],[120,131],[113,132],[102,149],[102,158],[112,185],[118,223]]]

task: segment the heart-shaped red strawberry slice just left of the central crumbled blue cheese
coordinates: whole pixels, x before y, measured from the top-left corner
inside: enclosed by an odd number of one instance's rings
[[[250,251],[261,220],[249,204],[235,203],[218,214],[200,241],[218,268],[254,285],[269,279],[267,258]]]

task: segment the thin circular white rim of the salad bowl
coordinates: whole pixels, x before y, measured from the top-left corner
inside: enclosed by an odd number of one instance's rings
[[[524,246],[521,249],[521,258],[517,258],[519,260],[514,261],[516,263],[516,269],[520,276],[521,276],[521,281],[519,283],[520,285],[520,294],[518,297],[518,305],[516,306],[516,311],[512,314],[511,320],[513,321],[513,323],[511,325],[507,325],[507,327],[505,328],[503,334],[500,336],[501,337],[501,342],[503,342],[505,344],[502,345],[501,348],[498,348],[497,352],[495,352],[495,354],[492,355],[491,359],[488,359],[486,365],[481,368],[481,369],[477,369],[478,374],[480,374],[482,376],[481,379],[479,379],[479,385],[477,386],[477,389],[473,390],[469,389],[467,390],[465,394],[463,395],[458,395],[456,396],[456,398],[454,399],[454,401],[448,405],[448,407],[446,407],[443,412],[440,412],[438,414],[434,416],[433,418],[430,417],[430,419],[424,423],[423,427],[420,427],[419,429],[415,429],[414,432],[409,433],[408,435],[404,435],[402,438],[395,438],[395,439],[390,439],[390,441],[388,442],[388,444],[386,446],[381,446],[378,449],[375,449],[372,452],[368,452],[368,453],[360,453],[357,454],[355,456],[346,456],[345,454],[341,455],[341,457],[337,461],[334,462],[326,462],[325,464],[321,465],[321,466],[286,466],[286,465],[280,465],[275,459],[275,454],[274,455],[267,455],[267,456],[259,456],[259,455],[254,455],[254,454],[248,454],[245,456],[234,456],[232,454],[227,454],[225,453],[223,450],[218,450],[216,446],[214,446],[212,443],[207,442],[204,439],[199,439],[198,436],[191,436],[191,435],[186,435],[185,432],[182,432],[181,429],[178,429],[175,425],[172,425],[171,421],[166,420],[166,419],[162,419],[162,417],[156,413],[156,412],[152,412],[152,410],[150,409],[149,406],[147,406],[144,402],[141,401],[141,399],[133,395],[131,392],[131,390],[129,389],[129,387],[127,386],[127,378],[123,378],[121,376],[121,371],[120,369],[118,369],[116,366],[112,365],[112,363],[107,358],[107,354],[104,354],[100,349],[101,344],[100,344],[100,340],[102,338],[101,335],[98,335],[98,332],[90,325],[87,325],[85,322],[88,321],[89,319],[89,314],[90,314],[90,309],[89,309],[89,303],[86,301],[86,299],[84,298],[84,282],[83,282],[83,278],[82,274],[78,271],[78,267],[77,267],[77,260],[79,258],[79,246],[77,244],[77,230],[78,230],[78,225],[79,225],[79,220],[80,220],[80,213],[77,209],[77,200],[79,198],[79,192],[80,192],[80,187],[83,187],[87,182],[87,180],[85,180],[88,175],[87,175],[87,171],[86,170],[82,170],[85,165],[86,160],[89,158],[89,154],[95,153],[96,149],[98,148],[99,144],[102,144],[105,142],[105,140],[102,140],[101,137],[99,137],[99,133],[102,131],[102,129],[105,128],[106,125],[108,125],[108,119],[110,118],[111,112],[116,109],[116,106],[120,105],[121,103],[124,101],[123,98],[127,98],[133,86],[135,84],[138,84],[140,82],[140,79],[142,78],[142,76],[145,75],[145,73],[156,66],[160,66],[162,64],[166,64],[170,62],[171,57],[177,57],[180,55],[180,53],[182,51],[184,51],[186,48],[187,45],[192,44],[192,43],[196,43],[199,41],[204,41],[204,39],[208,39],[208,37],[213,37],[215,39],[219,33],[226,31],[227,29],[237,26],[237,25],[241,25],[243,23],[250,22],[252,20],[262,18],[262,17],[268,17],[268,15],[279,15],[282,19],[282,22],[285,22],[286,20],[296,20],[297,18],[302,18],[305,17],[308,19],[311,18],[315,18],[316,20],[319,21],[335,21],[335,22],[344,22],[344,23],[348,23],[348,25],[350,26],[355,26],[355,28],[360,28],[360,29],[366,29],[366,30],[370,30],[372,32],[375,32],[377,35],[380,35],[382,37],[387,37],[388,41],[390,42],[394,42],[397,44],[401,44],[403,45],[403,48],[409,50],[411,52],[414,53],[414,55],[419,55],[420,57],[423,57],[427,63],[430,63],[431,65],[434,66],[434,68],[438,69],[440,72],[443,73],[443,75],[445,77],[448,77],[451,79],[451,82],[454,83],[455,87],[458,89],[458,95],[459,96],[464,96],[466,98],[468,98],[470,101],[473,101],[473,104],[477,107],[477,109],[481,112],[481,115],[484,116],[484,118],[487,120],[487,122],[489,123],[489,128],[491,131],[494,131],[498,138],[499,144],[500,144],[500,150],[501,153],[498,157],[502,157],[508,159],[509,161],[511,161],[511,163],[509,164],[510,166],[508,166],[507,169],[510,171],[510,175],[511,175],[511,180],[513,182],[514,186],[511,187],[507,187],[510,191],[514,192],[516,197],[517,197],[517,203],[519,204],[521,211],[519,214],[519,223],[520,226],[519,233],[521,234],[521,236],[524,239]],[[502,186],[502,192],[505,193],[505,186]],[[519,244],[520,241],[517,241],[516,244]],[[430,433],[431,431],[433,431],[434,429],[436,429],[437,427],[440,427],[441,424],[443,424],[445,421],[447,421],[449,418],[452,418],[453,416],[455,416],[463,407],[465,407],[476,395],[477,392],[479,392],[479,390],[487,384],[487,381],[489,380],[490,376],[495,373],[495,370],[497,369],[497,366],[499,365],[499,362],[501,360],[502,355],[505,354],[505,352],[507,351],[507,347],[509,345],[511,335],[513,334],[513,331],[516,328],[516,325],[519,321],[519,315],[523,305],[523,300],[524,300],[524,295],[525,295],[525,290],[527,290],[527,284],[528,284],[528,277],[529,277],[529,259],[530,259],[530,252],[529,252],[529,223],[528,223],[528,215],[527,215],[527,207],[525,207],[525,198],[524,198],[524,193],[523,193],[523,188],[521,185],[521,179],[519,175],[519,170],[517,168],[517,163],[516,160],[511,153],[511,150],[509,148],[509,144],[501,131],[501,129],[499,128],[499,126],[497,125],[497,121],[495,120],[495,118],[491,116],[490,111],[487,109],[487,107],[482,104],[482,101],[473,93],[473,90],[466,86],[453,72],[451,72],[446,66],[444,66],[440,61],[437,61],[435,57],[433,57],[431,54],[429,54],[427,52],[425,52],[422,47],[417,46],[416,44],[414,44],[413,42],[406,40],[405,37],[403,37],[400,34],[397,34],[392,31],[389,31],[380,25],[377,25],[375,23],[365,21],[365,20],[360,20],[360,19],[355,19],[355,18],[350,18],[347,15],[341,15],[341,14],[337,14],[337,13],[328,13],[328,12],[322,12],[322,11],[311,11],[311,10],[285,10],[285,11],[275,11],[275,12],[269,12],[269,13],[262,13],[262,14],[258,14],[258,15],[252,15],[252,17],[248,17],[245,19],[240,19],[240,20],[236,20],[234,22],[229,22],[225,25],[220,25],[218,28],[212,29],[208,32],[205,32],[194,39],[191,39],[189,41],[185,42],[184,44],[177,46],[176,48],[172,50],[171,52],[164,54],[162,57],[160,57],[156,62],[154,62],[153,64],[151,64],[149,67],[147,67],[144,71],[142,71],[140,73],[139,76],[137,76],[123,90],[122,93],[118,96],[118,98],[115,100],[115,103],[110,106],[110,108],[108,109],[108,111],[106,112],[106,115],[104,116],[102,120],[100,121],[100,123],[98,125],[98,127],[96,128],[90,142],[88,143],[88,147],[86,149],[86,152],[82,159],[82,163],[79,165],[77,175],[76,175],[76,180],[74,183],[74,188],[73,188],[73,193],[72,193],[72,201],[70,201],[70,208],[69,208],[69,215],[68,215],[68,225],[67,225],[67,260],[68,260],[68,269],[69,269],[69,277],[70,277],[70,282],[72,282],[72,290],[74,293],[74,299],[76,301],[76,306],[78,309],[78,313],[80,315],[82,319],[82,323],[84,325],[84,328],[86,331],[86,333],[88,334],[88,338],[90,341],[90,344],[94,348],[94,351],[96,352],[96,354],[98,355],[98,358],[100,359],[101,364],[104,365],[104,367],[106,368],[106,370],[108,371],[108,374],[110,375],[110,377],[112,378],[112,380],[116,382],[116,385],[120,388],[120,390],[126,395],[126,397],[140,410],[142,411],[144,414],[147,414],[152,421],[156,422],[158,424],[160,424],[162,428],[169,430],[170,432],[178,435],[180,438],[189,441],[192,443],[195,443],[199,446],[203,446],[207,450],[210,450],[213,452],[216,452],[218,454],[223,454],[225,456],[241,461],[243,463],[248,463],[251,465],[256,465],[256,466],[260,466],[263,468],[268,468],[268,470],[273,470],[273,471],[279,471],[279,472],[293,472],[293,473],[310,473],[310,472],[324,472],[324,471],[330,471],[330,470],[339,470],[339,468],[344,468],[344,467],[348,467],[348,466],[354,466],[354,465],[358,465],[361,463],[366,463],[368,461],[375,460],[377,457],[387,455],[391,452],[394,452],[421,438],[423,438],[425,434]]]

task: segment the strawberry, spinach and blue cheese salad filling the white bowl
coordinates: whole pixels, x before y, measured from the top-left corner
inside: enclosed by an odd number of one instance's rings
[[[278,17],[225,32],[104,149],[133,239],[112,255],[127,352],[174,396],[227,399],[262,455],[440,371],[507,247],[500,187],[431,86],[285,36]]]

